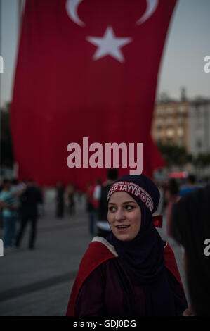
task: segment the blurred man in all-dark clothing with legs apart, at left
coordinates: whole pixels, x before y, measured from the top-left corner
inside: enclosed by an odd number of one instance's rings
[[[16,238],[15,245],[20,246],[22,236],[25,232],[27,223],[31,221],[31,232],[29,237],[29,249],[34,249],[34,242],[37,234],[37,205],[43,203],[41,191],[34,185],[33,180],[28,180],[27,189],[20,197],[20,230]]]

